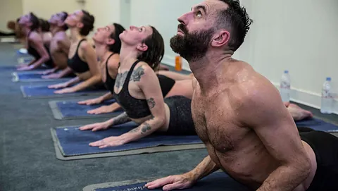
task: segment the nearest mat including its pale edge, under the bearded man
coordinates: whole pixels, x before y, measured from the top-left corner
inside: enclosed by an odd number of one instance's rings
[[[159,177],[163,178],[163,177]],[[97,185],[89,185],[84,187],[83,191],[123,191],[123,190],[149,190],[144,185],[156,180],[158,178],[149,178],[148,180],[127,180],[117,183],[103,183]],[[160,191],[162,187],[154,189],[153,191]],[[206,177],[198,180],[191,188],[184,189],[183,191],[249,191],[249,188],[236,180],[231,178],[227,173],[215,172],[207,175]]]

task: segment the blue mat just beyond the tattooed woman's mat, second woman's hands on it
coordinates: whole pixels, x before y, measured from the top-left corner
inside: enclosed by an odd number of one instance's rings
[[[118,116],[123,112],[123,109],[119,109],[118,111],[112,113],[104,113],[99,115],[93,115],[87,113],[87,111],[99,108],[101,106],[108,106],[115,103],[114,99],[104,101],[102,104],[96,104],[92,106],[80,105],[77,104],[77,101],[49,101],[49,106],[51,106],[51,110],[53,111],[54,118],[58,120],[62,119],[75,119],[75,118],[102,118],[102,117],[114,117]]]

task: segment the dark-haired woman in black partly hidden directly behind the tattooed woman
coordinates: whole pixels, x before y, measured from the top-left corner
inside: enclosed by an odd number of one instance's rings
[[[115,78],[118,70],[119,54],[121,48],[120,33],[123,32],[123,27],[117,23],[101,27],[95,33],[93,39],[95,42],[96,54],[101,60],[102,80],[105,82],[106,88],[110,90],[107,94],[96,99],[89,99],[79,101],[78,104],[100,104],[108,99],[113,99],[113,87],[115,85]],[[108,71],[108,73],[107,73]],[[168,78],[166,75],[158,74],[158,81],[160,83],[163,97],[171,97],[174,95],[182,95],[184,97],[192,98],[192,81],[182,80],[175,81]],[[113,103],[108,106],[101,106],[98,109],[87,111],[91,114],[110,113],[120,109],[118,103]]]

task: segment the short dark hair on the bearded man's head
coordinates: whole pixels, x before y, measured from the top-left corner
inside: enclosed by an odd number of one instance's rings
[[[236,51],[244,42],[246,33],[249,31],[253,20],[246,13],[246,8],[244,6],[241,7],[239,0],[220,1],[223,1],[229,7],[219,11],[215,25],[217,25],[218,29],[222,27],[230,29],[228,46],[232,51]]]

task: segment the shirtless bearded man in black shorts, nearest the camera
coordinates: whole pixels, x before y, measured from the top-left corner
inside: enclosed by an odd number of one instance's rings
[[[239,1],[206,0],[178,20],[170,46],[194,73],[192,117],[209,155],[146,187],[184,189],[222,169],[252,190],[338,190],[338,138],[299,133],[270,81],[232,58],[252,22]]]

